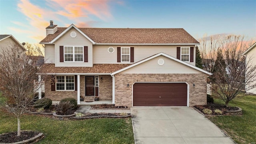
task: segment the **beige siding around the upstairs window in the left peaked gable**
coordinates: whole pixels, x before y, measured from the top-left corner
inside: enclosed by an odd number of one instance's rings
[[[76,32],[76,37],[72,38],[70,32]],[[60,46],[88,46],[88,62],[60,62]],[[55,42],[55,66],[92,67],[92,43],[75,28],[71,28]]]

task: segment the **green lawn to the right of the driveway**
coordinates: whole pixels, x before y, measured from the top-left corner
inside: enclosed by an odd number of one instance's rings
[[[209,119],[238,144],[256,143],[256,96],[240,94],[229,106],[242,108],[242,116],[212,116]],[[214,98],[214,103],[225,104]]]

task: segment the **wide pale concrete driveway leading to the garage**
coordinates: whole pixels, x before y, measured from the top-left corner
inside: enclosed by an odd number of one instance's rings
[[[235,144],[190,107],[131,108],[135,144]]]

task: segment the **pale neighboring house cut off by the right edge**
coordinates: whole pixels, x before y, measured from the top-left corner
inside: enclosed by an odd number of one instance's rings
[[[256,42],[248,48],[244,53],[246,56],[246,64],[253,64],[256,65]],[[245,86],[245,91],[248,94],[256,94],[256,81],[247,83]]]

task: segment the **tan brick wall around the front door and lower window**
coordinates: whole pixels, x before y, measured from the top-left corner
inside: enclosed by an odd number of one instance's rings
[[[80,75],[80,96],[85,96],[84,80],[85,76]],[[51,91],[49,80],[45,80],[45,97],[51,100],[62,100],[63,98],[77,99],[77,91]],[[112,77],[110,75],[99,76],[99,100],[112,100]]]

